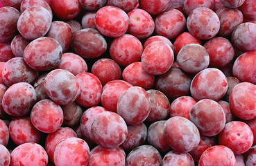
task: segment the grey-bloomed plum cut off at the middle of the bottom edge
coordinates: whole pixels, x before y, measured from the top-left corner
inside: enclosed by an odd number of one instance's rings
[[[157,151],[157,149],[151,145],[142,145],[136,147],[130,151],[126,158],[127,166],[144,165],[145,163],[151,166],[162,164],[162,157],[159,151]]]

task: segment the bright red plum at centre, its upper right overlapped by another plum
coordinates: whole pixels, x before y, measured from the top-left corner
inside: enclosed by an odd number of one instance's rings
[[[142,62],[134,62],[123,69],[123,80],[133,86],[140,86],[145,90],[153,88],[155,85],[155,76],[146,73]]]

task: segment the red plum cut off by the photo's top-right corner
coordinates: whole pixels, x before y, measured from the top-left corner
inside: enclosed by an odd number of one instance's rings
[[[256,4],[253,0],[246,0],[239,7],[239,10],[243,13],[244,17],[249,20],[256,20]]]

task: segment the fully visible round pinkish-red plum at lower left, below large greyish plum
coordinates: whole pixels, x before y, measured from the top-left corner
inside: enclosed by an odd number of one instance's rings
[[[31,110],[31,122],[39,131],[52,133],[60,129],[63,111],[55,102],[48,99],[41,100]]]

